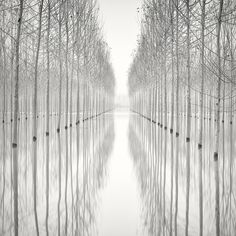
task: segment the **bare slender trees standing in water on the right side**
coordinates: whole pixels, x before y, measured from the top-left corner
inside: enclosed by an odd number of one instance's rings
[[[225,123],[231,127],[231,137],[233,132],[236,2],[146,0],[142,11],[139,45],[129,71],[132,110],[166,131],[163,134],[166,140],[164,145],[168,145],[168,130],[172,136],[176,136],[175,150],[171,145],[171,185],[174,184],[175,163],[177,202],[179,137],[181,127],[185,127],[185,235],[189,231],[191,143],[197,145],[199,150],[199,235],[203,235],[202,161],[206,146],[203,143],[204,120],[214,121],[212,161],[215,163],[215,232],[220,235],[220,133]],[[186,117],[183,123],[180,122],[181,115]],[[191,137],[193,118],[199,119],[197,141]],[[231,152],[228,157],[231,163],[232,156]],[[164,157],[166,158],[166,151]],[[165,178],[166,174],[164,183]],[[175,219],[178,204],[176,206]],[[172,234],[172,230],[170,232]]]

